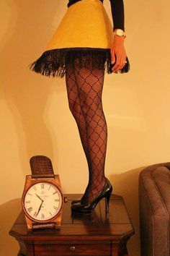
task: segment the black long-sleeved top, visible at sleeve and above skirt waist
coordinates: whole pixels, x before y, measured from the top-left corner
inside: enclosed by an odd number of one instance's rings
[[[68,0],[67,7],[81,0]],[[100,0],[103,3],[103,0]],[[125,15],[123,0],[109,0],[112,12],[113,31],[117,28],[125,31]]]

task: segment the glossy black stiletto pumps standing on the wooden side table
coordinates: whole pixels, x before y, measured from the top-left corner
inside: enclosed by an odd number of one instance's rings
[[[109,213],[109,198],[111,194],[112,194],[112,184],[106,178],[106,183],[104,184],[104,187],[92,202],[89,202],[88,204],[84,204],[83,202],[81,202],[81,200],[79,200],[79,202],[71,205],[71,210],[76,213],[92,213],[97,203],[100,200],[102,200],[102,198],[105,197],[105,211],[106,213]]]

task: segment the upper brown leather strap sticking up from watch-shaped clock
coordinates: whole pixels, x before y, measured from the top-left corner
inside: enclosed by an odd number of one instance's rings
[[[49,178],[54,179],[53,166],[45,155],[34,155],[30,158],[32,179]]]

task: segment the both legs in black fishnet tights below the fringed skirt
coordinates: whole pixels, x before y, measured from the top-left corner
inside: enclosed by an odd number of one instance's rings
[[[66,66],[68,105],[76,120],[89,168],[89,183],[82,197],[87,203],[94,200],[106,182],[107,123],[102,109],[103,83],[104,69]]]

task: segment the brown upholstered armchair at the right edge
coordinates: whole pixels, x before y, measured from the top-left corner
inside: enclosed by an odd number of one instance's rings
[[[170,162],[139,176],[141,256],[170,256]]]

